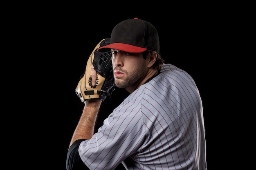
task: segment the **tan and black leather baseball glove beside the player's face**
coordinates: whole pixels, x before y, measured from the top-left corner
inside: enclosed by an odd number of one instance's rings
[[[108,45],[110,38],[101,40],[92,51],[85,68],[85,72],[81,75],[81,79],[76,86],[76,95],[81,99],[81,102],[90,99],[105,100],[110,97],[112,91],[115,90],[115,82],[113,68],[111,62],[111,51],[98,52],[97,49],[101,46]],[[97,73],[96,84],[92,85],[91,65]]]

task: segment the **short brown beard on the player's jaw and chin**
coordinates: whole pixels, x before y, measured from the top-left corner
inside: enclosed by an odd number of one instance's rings
[[[115,86],[119,88],[126,88],[129,86],[134,86],[139,84],[139,82],[144,78],[147,73],[147,68],[145,66],[137,67],[133,69],[131,72],[127,72],[126,70],[117,69],[125,73],[126,79],[118,79],[115,77]]]

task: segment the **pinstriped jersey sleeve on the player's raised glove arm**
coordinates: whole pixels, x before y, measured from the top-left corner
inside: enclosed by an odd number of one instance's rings
[[[79,154],[90,169],[114,169],[139,152],[144,139],[141,98],[128,97],[104,120],[92,139],[81,142]]]

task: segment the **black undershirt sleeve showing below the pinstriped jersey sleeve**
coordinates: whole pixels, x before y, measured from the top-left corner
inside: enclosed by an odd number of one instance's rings
[[[66,168],[67,170],[90,170],[79,156],[78,148],[85,139],[78,139],[70,146],[67,151]]]

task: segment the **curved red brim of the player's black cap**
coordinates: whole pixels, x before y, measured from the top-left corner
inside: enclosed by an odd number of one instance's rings
[[[133,46],[129,44],[113,43],[106,46],[102,46],[97,51],[104,52],[104,51],[109,51],[110,49],[116,49],[116,50],[125,51],[128,53],[142,53],[147,50],[146,48]]]

